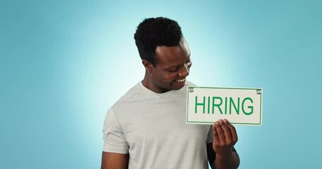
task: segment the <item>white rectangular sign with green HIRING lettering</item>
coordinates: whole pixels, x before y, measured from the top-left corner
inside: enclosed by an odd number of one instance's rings
[[[262,125],[263,89],[188,87],[187,121],[213,124],[226,118],[235,125]]]

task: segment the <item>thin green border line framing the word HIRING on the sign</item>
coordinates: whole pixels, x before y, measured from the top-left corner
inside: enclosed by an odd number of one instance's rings
[[[187,119],[186,123],[209,123],[213,124],[213,122],[203,122],[203,121],[188,121],[188,101],[189,101],[189,87],[193,88],[200,88],[200,89],[249,89],[249,90],[258,90],[260,89],[262,92],[260,93],[260,123],[231,123],[231,124],[236,124],[236,125],[262,125],[262,111],[263,111],[263,88],[243,88],[243,87],[196,87],[196,86],[188,86],[187,87]]]

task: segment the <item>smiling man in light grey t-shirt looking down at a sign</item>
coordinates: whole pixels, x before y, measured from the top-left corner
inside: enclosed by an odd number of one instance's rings
[[[237,134],[227,120],[185,124],[186,80],[192,65],[181,28],[147,18],[134,39],[145,75],[109,110],[101,168],[238,168]]]

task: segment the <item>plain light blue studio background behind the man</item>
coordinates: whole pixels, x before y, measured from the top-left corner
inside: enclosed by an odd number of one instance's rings
[[[107,109],[142,80],[149,17],[178,20],[188,80],[263,87],[240,168],[322,168],[321,1],[0,1],[0,168],[99,168]]]

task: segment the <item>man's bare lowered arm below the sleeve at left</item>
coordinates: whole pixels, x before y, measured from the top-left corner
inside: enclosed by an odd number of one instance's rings
[[[101,169],[126,169],[129,163],[129,154],[104,152],[102,154]]]

